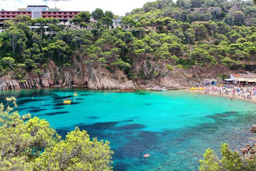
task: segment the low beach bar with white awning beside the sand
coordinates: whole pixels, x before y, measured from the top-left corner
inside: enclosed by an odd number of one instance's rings
[[[233,84],[239,85],[254,85],[256,84],[256,74],[230,74],[230,79],[225,79],[225,81],[232,81]]]

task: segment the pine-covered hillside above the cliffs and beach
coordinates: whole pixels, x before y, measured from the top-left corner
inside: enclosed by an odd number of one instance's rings
[[[109,30],[111,11],[81,12],[73,22],[87,29],[69,29],[54,18],[30,19],[19,16],[5,21],[0,34],[0,74],[10,71],[18,80],[26,72],[43,74],[53,60],[72,67],[74,54],[83,55],[86,67],[119,67],[130,79],[145,79],[134,64],[154,61],[170,72],[175,68],[201,68],[217,65],[231,70],[255,70],[256,27],[253,1],[240,0],[157,0],[122,17],[123,26]],[[89,23],[90,15],[97,20]],[[39,26],[30,29],[29,26]],[[43,26],[48,25],[47,34]],[[153,77],[161,77],[152,71]]]

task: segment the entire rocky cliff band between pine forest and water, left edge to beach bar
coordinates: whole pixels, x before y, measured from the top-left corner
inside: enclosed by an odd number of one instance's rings
[[[153,60],[140,60],[131,66],[135,76],[128,82],[127,75],[117,67],[107,70],[106,67],[88,67],[83,56],[73,59],[73,65],[58,67],[54,62],[48,62],[46,68],[41,68],[43,74],[33,72],[26,74],[26,80],[16,80],[11,77],[14,73],[0,78],[0,90],[21,90],[47,87],[86,87],[88,89],[121,89],[134,91],[137,89],[161,90],[180,89],[202,82],[202,79],[216,78],[219,67],[204,67],[183,69],[174,66],[173,70],[165,68],[166,63]],[[199,74],[200,73],[200,74]],[[227,70],[223,74],[229,75]],[[221,80],[220,80],[221,82]]]

